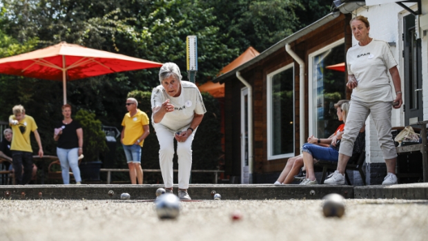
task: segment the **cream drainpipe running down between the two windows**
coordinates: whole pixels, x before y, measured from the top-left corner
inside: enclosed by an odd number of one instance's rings
[[[300,119],[300,146],[303,146],[304,144],[304,140],[306,135],[304,134],[304,124],[305,124],[305,117],[304,117],[304,61],[302,59],[300,59],[300,57],[298,57],[298,55],[295,54],[295,52],[293,52],[293,50],[291,50],[291,47],[289,44],[285,45],[285,50],[286,52],[289,53],[289,55],[296,61],[298,62],[298,64],[300,65],[300,114],[299,114],[299,119]]]

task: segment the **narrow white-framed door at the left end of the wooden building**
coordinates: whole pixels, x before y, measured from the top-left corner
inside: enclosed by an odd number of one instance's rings
[[[241,89],[241,184],[249,184],[249,89]]]

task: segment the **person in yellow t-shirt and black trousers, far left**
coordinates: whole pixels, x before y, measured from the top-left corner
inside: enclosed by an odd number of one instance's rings
[[[10,146],[12,164],[17,184],[25,185],[30,182],[32,177],[31,132],[35,134],[37,144],[39,144],[39,157],[43,157],[43,148],[41,147],[35,119],[30,115],[26,115],[26,110],[21,105],[13,106],[12,113],[13,115],[9,117],[9,124],[13,131],[12,144]]]

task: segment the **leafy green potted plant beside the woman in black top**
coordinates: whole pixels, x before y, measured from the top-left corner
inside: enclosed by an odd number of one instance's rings
[[[84,159],[79,168],[82,178],[87,181],[99,181],[99,153],[107,151],[106,134],[101,130],[101,121],[95,119],[94,113],[79,110],[75,119],[84,131]]]

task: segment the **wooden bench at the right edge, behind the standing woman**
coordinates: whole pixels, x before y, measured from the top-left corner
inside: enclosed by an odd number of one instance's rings
[[[422,122],[416,122],[416,125],[420,125],[420,137],[422,138],[422,144],[414,144],[410,146],[398,146],[397,154],[400,155],[401,153],[411,153],[414,151],[420,151],[422,153],[422,176],[423,176],[423,182],[428,182],[428,153],[427,153],[427,124],[428,120],[422,121]],[[395,127],[393,129],[400,130],[402,127]],[[416,131],[416,130],[415,130]],[[396,170],[398,171],[398,170]],[[413,177],[415,175],[414,173],[396,173],[397,177]]]

